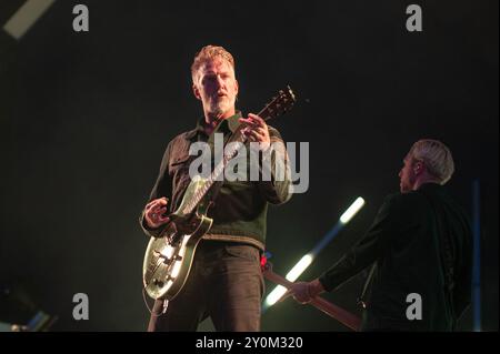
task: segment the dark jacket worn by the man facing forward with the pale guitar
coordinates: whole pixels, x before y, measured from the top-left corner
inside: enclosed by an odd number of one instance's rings
[[[223,133],[226,142],[239,125],[240,117],[241,113],[238,112],[222,121],[214,132]],[[269,127],[269,135],[271,143],[282,143],[280,133],[271,127]],[[189,154],[189,148],[198,141],[209,142],[213,151],[213,142],[209,141],[201,123],[170,141],[149,201],[167,196],[170,212],[178,209],[191,182],[189,165],[197,158]],[[213,224],[203,239],[243,242],[264,250],[268,204],[281,204],[291,198],[290,174],[286,173],[286,179],[279,181],[274,179],[274,172],[273,169],[270,171],[271,181],[224,181],[214,205],[209,210],[208,216],[213,219]],[[149,236],[158,236],[162,229],[147,227],[143,213],[144,211],[139,218],[142,230]]]

